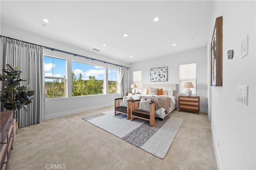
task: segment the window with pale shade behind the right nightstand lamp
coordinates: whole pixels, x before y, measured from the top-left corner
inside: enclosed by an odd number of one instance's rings
[[[185,94],[185,82],[192,82],[195,88],[190,90],[196,95],[196,63],[180,64],[180,94]]]

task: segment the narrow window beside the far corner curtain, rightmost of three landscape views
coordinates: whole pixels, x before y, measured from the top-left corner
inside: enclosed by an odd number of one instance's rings
[[[117,93],[117,69],[108,68],[108,93]]]

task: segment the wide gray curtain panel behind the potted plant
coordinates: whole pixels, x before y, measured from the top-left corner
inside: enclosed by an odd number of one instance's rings
[[[45,107],[43,48],[6,37],[1,37],[1,43],[5,43],[1,44],[1,67],[6,68],[6,64],[18,67],[22,71],[20,78],[27,80],[20,86],[30,85],[30,90],[36,91],[27,111],[20,109],[16,115],[19,127],[41,123]]]

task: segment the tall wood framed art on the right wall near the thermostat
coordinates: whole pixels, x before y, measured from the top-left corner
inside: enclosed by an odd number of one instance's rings
[[[216,18],[211,43],[211,85],[222,86],[222,16]]]

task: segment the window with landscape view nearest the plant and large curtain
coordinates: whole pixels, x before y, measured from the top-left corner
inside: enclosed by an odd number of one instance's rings
[[[66,60],[44,55],[45,97],[66,97]]]

